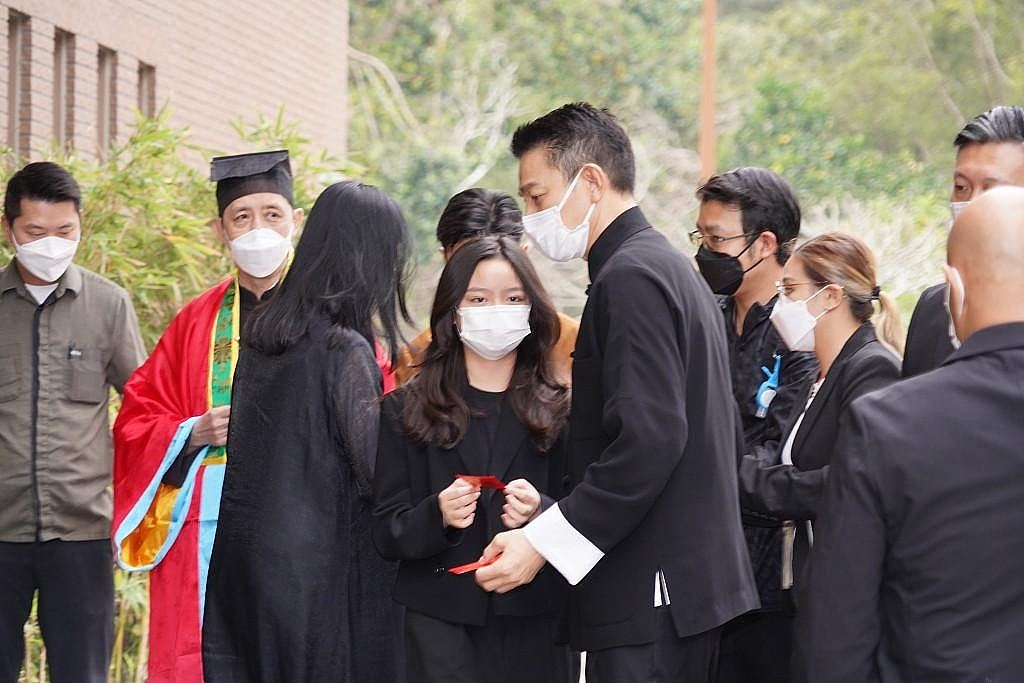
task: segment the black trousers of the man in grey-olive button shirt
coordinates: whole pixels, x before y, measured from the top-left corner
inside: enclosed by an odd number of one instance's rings
[[[114,643],[111,542],[0,543],[0,683],[17,681],[36,591],[50,680],[105,683]]]

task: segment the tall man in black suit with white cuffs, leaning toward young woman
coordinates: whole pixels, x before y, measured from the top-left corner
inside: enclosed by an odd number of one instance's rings
[[[550,562],[575,587],[569,636],[590,683],[709,681],[721,626],[758,606],[721,311],[636,206],[632,147],[610,114],[566,104],[520,127],[512,153],[526,233],[590,270],[572,366],[575,488],[496,537],[484,556],[503,555],[477,583],[505,592]]]

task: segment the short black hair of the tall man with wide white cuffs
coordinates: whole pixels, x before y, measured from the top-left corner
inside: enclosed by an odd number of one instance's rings
[[[636,162],[629,136],[608,110],[587,102],[564,104],[519,126],[511,146],[516,159],[537,147],[546,148],[552,166],[566,180],[584,164],[597,164],[620,193],[632,194],[636,184]]]

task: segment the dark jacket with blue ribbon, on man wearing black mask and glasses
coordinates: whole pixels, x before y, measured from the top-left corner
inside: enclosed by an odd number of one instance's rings
[[[753,455],[765,465],[777,465],[785,430],[793,408],[808,383],[818,372],[818,359],[808,351],[791,351],[772,325],[770,315],[775,306],[772,297],[764,306],[755,303],[746,311],[742,332],[736,333],[736,305],[732,297],[721,297],[719,305],[725,315],[726,339],[729,344],[729,365],[732,369],[732,396],[739,412],[743,430],[741,455]],[[764,416],[758,414],[757,395],[769,373],[779,362],[775,398]],[[804,393],[806,399],[806,393]],[[743,535],[751,554],[751,565],[758,584],[761,608],[766,611],[790,611],[788,594],[781,586],[782,522],[770,515],[742,511]]]

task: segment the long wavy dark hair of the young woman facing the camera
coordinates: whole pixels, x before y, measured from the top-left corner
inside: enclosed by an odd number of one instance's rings
[[[477,265],[486,259],[509,262],[529,299],[530,333],[516,349],[515,370],[506,392],[508,403],[541,451],[557,440],[569,410],[568,388],[554,378],[548,362],[561,327],[554,304],[519,245],[508,238],[484,237],[467,242],[441,271],[430,311],[432,338],[420,371],[402,384],[406,435],[418,443],[456,445],[469,427],[470,409],[463,397],[469,380],[465,351],[455,327]]]

